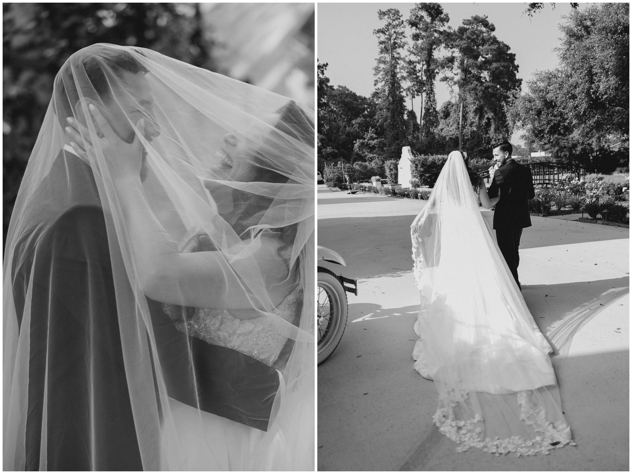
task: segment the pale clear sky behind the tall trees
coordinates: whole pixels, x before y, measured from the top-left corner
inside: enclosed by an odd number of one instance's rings
[[[509,45],[516,54],[518,77],[522,90],[526,81],[537,70],[556,68],[562,16],[572,11],[569,3],[556,3],[552,8],[545,3],[544,8],[529,18],[523,14],[526,3],[441,3],[449,15],[449,25],[457,28],[465,18],[472,15],[487,15],[496,27],[495,35]],[[590,4],[580,3],[580,9]],[[321,63],[328,63],[325,75],[331,85],[345,85],[361,96],[370,96],[374,90],[373,68],[377,58],[377,37],[373,30],[382,27],[377,19],[379,9],[397,8],[404,21],[410,15],[414,3],[321,3],[317,4],[317,55]],[[410,29],[406,31],[410,37]],[[435,85],[437,105],[450,99],[447,85],[437,80]],[[410,99],[406,99],[410,108]],[[420,99],[413,108],[419,115]],[[522,143],[520,133],[511,138]]]

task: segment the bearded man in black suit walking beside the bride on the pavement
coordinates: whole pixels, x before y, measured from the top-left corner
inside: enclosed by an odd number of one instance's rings
[[[535,197],[533,177],[529,168],[511,158],[513,147],[507,140],[495,142],[492,149],[494,161],[500,165],[487,190],[490,198],[498,196],[499,190],[501,192],[501,200],[494,211],[496,240],[518,288],[521,289],[518,281],[518,247],[523,228],[531,227],[529,199]]]

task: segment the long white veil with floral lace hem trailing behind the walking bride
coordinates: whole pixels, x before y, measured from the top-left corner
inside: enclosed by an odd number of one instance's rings
[[[458,451],[524,456],[573,444],[552,348],[478,210],[458,151],[449,154],[411,238],[422,300],[413,358],[439,391],[435,425]]]

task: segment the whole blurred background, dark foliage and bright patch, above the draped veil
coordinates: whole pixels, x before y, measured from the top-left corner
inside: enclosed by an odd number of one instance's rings
[[[4,3],[3,242],[54,77],[75,51],[146,47],[311,106],[313,13],[313,4]]]

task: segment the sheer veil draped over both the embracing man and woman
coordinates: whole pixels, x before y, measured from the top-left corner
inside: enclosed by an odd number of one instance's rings
[[[6,239],[5,470],[313,470],[313,160],[286,97],[142,48],[66,61]]]

